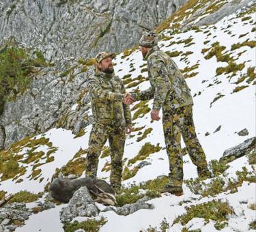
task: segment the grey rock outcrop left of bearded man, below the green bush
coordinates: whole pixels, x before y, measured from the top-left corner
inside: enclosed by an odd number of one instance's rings
[[[63,76],[67,63],[72,66],[72,61],[67,60],[38,70],[39,74],[31,81],[29,90],[23,96],[17,96],[16,101],[5,103],[0,116],[0,149],[53,127],[74,128],[76,134],[86,126],[89,96],[85,94],[81,98],[76,110],[72,106],[85,91],[87,76],[93,69],[81,72],[83,67],[77,66],[70,74]],[[63,117],[65,124],[61,123]]]

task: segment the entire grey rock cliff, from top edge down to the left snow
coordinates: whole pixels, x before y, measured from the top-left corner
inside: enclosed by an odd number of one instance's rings
[[[53,127],[77,134],[90,124],[89,98],[86,94],[81,98],[81,93],[91,72],[82,72],[74,59],[133,46],[143,28],[154,29],[186,1],[1,0],[0,46],[12,37],[25,47],[42,50],[55,66],[39,68],[29,91],[5,104],[0,116],[0,149]],[[67,66],[72,69],[63,75]],[[79,106],[72,108],[77,100]]]

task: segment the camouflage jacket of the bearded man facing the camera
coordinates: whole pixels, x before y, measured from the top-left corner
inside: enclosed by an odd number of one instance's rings
[[[122,102],[125,88],[119,77],[96,70],[87,80],[87,89],[95,123],[131,125],[130,107]]]

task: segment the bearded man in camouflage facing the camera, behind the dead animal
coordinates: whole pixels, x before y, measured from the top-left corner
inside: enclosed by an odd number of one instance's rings
[[[87,89],[91,96],[93,125],[85,165],[86,176],[96,178],[98,158],[109,139],[111,156],[111,186],[119,190],[122,180],[122,157],[126,132],[131,132],[130,107],[123,103],[125,89],[122,80],[115,76],[109,53],[98,53],[96,72],[89,76]]]

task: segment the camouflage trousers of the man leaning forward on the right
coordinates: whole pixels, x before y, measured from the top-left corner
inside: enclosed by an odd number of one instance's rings
[[[195,132],[192,107],[192,105],[182,106],[173,111],[163,112],[162,123],[169,156],[169,184],[172,186],[182,186],[183,182],[181,135],[188,155],[197,166],[197,170],[207,169],[205,154]]]

